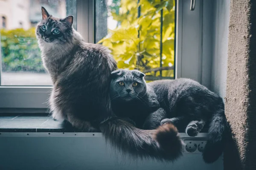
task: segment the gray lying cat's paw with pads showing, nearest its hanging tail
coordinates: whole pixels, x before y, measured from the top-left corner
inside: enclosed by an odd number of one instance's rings
[[[192,137],[197,136],[198,133],[204,128],[204,125],[205,121],[203,119],[201,119],[200,121],[193,120],[189,122],[189,125],[187,125],[186,134]]]

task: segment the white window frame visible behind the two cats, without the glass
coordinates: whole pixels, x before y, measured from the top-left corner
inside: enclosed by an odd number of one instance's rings
[[[90,43],[94,42],[93,2],[77,0],[77,30]],[[203,23],[206,5],[203,0],[196,0],[195,10],[190,11],[190,0],[177,0],[175,78],[195,79],[209,87],[211,58],[203,50],[203,40],[209,34],[207,30],[203,33],[204,25],[208,25]],[[0,86],[0,113],[44,113],[51,89],[50,86]]]

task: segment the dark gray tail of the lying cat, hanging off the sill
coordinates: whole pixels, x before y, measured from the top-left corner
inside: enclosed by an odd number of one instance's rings
[[[212,120],[209,124],[208,140],[203,152],[203,159],[206,163],[212,163],[221,156],[224,149],[227,127],[223,105],[223,107],[212,116]]]

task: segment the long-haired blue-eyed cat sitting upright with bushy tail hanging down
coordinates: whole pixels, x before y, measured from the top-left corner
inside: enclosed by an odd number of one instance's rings
[[[172,161],[180,156],[183,143],[175,126],[140,130],[112,114],[109,88],[116,61],[107,48],[86,43],[72,24],[73,16],[55,18],[42,7],[36,36],[53,82],[52,117],[87,132],[100,129],[113,146],[134,158]]]

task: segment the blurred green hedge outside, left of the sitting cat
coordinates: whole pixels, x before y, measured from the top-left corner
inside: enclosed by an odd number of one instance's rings
[[[2,71],[44,72],[35,28],[0,30]]]

